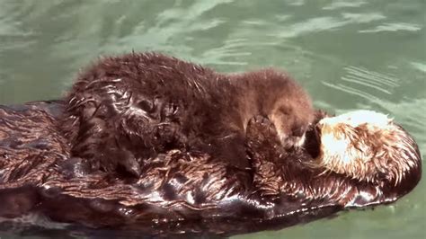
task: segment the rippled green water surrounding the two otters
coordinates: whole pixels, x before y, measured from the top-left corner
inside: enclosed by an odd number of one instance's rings
[[[6,0],[0,103],[58,98],[100,55],[159,50],[222,72],[286,69],[316,107],[390,114],[425,158],[425,9],[424,0]],[[423,180],[392,206],[235,238],[425,238],[425,193]]]

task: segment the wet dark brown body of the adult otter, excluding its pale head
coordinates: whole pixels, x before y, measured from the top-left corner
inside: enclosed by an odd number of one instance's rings
[[[410,164],[385,168],[388,175],[400,173],[398,181],[385,177],[373,182],[306,166],[322,155],[318,128],[307,130],[305,146],[283,156],[271,121],[255,117],[246,136],[253,171],[235,168],[217,155],[171,150],[149,158],[138,179],[128,181],[117,173],[87,172],[84,162],[70,158],[67,139],[56,128],[64,108],[65,102],[0,106],[0,217],[42,213],[58,222],[112,228],[118,231],[109,235],[126,238],[129,232],[137,238],[226,236],[393,202],[422,176],[421,155],[408,133],[403,139],[411,144],[409,158],[395,160]],[[317,112],[314,125],[324,117]],[[75,232],[75,224],[62,230]],[[29,233],[37,232],[45,231]]]

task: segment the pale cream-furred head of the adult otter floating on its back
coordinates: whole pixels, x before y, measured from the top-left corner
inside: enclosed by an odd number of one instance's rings
[[[351,111],[320,120],[320,166],[359,181],[397,185],[421,164],[416,143],[403,128],[375,111]]]

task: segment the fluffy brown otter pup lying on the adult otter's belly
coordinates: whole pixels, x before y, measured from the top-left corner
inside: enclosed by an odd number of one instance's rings
[[[62,130],[73,157],[93,170],[138,175],[144,159],[181,149],[212,153],[238,168],[250,164],[245,129],[261,115],[277,128],[283,148],[301,146],[314,117],[306,92],[267,68],[225,75],[155,53],[103,58],[67,95]]]

